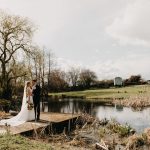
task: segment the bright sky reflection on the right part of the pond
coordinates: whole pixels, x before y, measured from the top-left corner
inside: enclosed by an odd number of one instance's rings
[[[124,107],[123,111],[117,111],[115,107],[99,106],[96,116],[102,118],[115,118],[122,124],[128,123],[138,132],[142,132],[145,128],[150,127],[150,108],[142,111],[133,111],[131,108]]]

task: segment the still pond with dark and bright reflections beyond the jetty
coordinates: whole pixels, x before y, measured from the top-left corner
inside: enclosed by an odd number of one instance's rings
[[[121,124],[128,123],[137,132],[143,132],[150,127],[150,108],[135,111],[132,108],[120,106],[104,106],[100,102],[86,100],[49,100],[44,103],[44,112],[81,113],[86,112],[98,119],[115,119]]]

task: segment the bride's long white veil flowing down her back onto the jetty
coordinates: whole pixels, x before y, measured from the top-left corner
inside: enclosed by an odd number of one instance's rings
[[[25,87],[24,87],[24,93],[23,93],[23,99],[22,99],[22,106],[21,106],[21,111],[18,113],[17,116],[11,118],[11,119],[4,119],[0,121],[0,125],[4,125],[5,123],[10,124],[10,125],[19,125],[27,121],[28,114],[26,113],[27,110],[27,102],[26,102],[26,88],[27,88],[27,83],[29,81],[25,82]]]

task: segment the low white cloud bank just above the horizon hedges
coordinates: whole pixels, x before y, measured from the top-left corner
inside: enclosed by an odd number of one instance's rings
[[[137,63],[138,60],[138,63]],[[149,56],[145,54],[134,54],[124,57],[120,57],[116,60],[96,61],[90,65],[83,65],[81,62],[58,58],[59,66],[64,71],[68,71],[70,67],[87,68],[96,72],[98,78],[113,79],[116,76],[122,78],[128,78],[131,75],[141,74],[144,79],[149,79],[150,72],[148,68],[150,66]]]

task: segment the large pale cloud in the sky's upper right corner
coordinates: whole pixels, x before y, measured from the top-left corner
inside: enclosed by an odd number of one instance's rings
[[[107,32],[121,44],[150,46],[150,0],[134,0]]]

